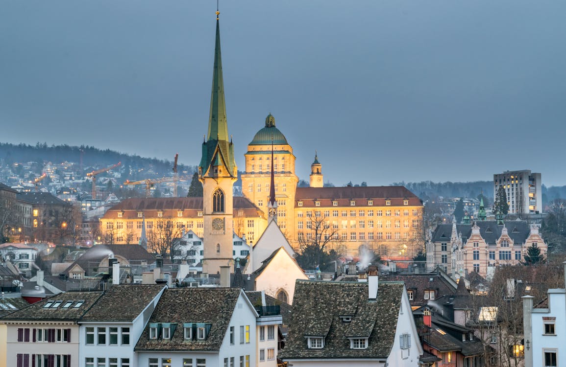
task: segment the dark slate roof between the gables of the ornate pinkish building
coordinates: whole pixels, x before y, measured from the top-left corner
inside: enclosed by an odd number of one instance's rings
[[[526,221],[505,221],[507,234],[515,244],[524,244],[530,234],[530,225]],[[498,226],[497,221],[478,221],[475,224],[479,227],[479,234],[488,245],[494,245],[501,237],[503,226]],[[456,224],[458,234],[462,234],[464,242],[471,236],[473,224]],[[432,232],[433,242],[450,241],[452,235],[452,224],[439,224]]]

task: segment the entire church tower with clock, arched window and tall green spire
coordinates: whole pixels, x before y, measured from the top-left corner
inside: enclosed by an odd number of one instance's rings
[[[199,164],[199,180],[203,184],[203,273],[208,274],[219,273],[221,266],[231,266],[234,262],[232,187],[238,175],[234,145],[228,140],[218,14],[217,11],[208,136]]]

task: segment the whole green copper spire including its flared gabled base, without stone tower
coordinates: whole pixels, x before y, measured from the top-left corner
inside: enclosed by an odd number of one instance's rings
[[[200,176],[206,175],[211,166],[224,166],[230,176],[237,175],[234,161],[234,146],[228,136],[226,102],[224,100],[224,79],[222,78],[222,56],[220,52],[220,22],[216,12],[216,43],[212,72],[211,110],[208,118],[208,136],[203,143],[200,160]]]

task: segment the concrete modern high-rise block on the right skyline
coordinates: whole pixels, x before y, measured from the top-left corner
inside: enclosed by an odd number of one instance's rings
[[[541,174],[530,170],[494,174],[494,198],[501,185],[507,195],[509,214],[542,213]]]

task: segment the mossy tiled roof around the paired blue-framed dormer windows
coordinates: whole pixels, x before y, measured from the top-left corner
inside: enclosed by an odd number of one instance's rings
[[[150,323],[177,323],[170,340],[149,339],[149,325],[135,351],[219,351],[228,330],[239,288],[170,288],[163,292]],[[183,323],[211,323],[204,341],[185,341]]]

